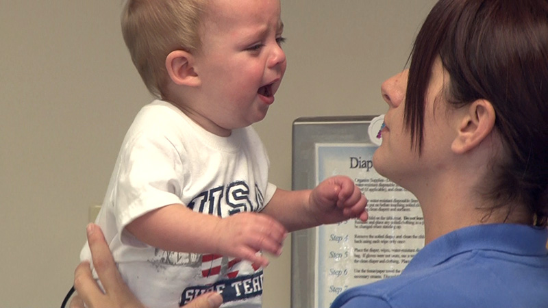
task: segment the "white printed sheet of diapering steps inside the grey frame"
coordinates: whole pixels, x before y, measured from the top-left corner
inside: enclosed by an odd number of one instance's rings
[[[316,184],[347,175],[368,199],[369,220],[316,228],[316,303],[329,307],[349,287],[398,275],[424,244],[419,203],[380,176],[374,144],[316,144]]]

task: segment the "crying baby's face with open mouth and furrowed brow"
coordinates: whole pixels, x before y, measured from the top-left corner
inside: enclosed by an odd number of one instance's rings
[[[286,71],[283,23],[279,0],[214,0],[207,15],[195,57],[203,103],[195,112],[198,123],[226,136],[262,120],[274,102]]]

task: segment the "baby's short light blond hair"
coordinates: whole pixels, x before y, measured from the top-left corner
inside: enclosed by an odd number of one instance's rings
[[[206,0],[127,0],[122,35],[142,81],[165,97],[166,57],[175,50],[199,51],[200,18]]]

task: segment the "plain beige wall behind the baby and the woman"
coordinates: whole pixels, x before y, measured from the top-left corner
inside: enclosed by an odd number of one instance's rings
[[[119,27],[121,0],[0,3],[0,306],[58,307],[72,285],[88,207],[151,97]],[[434,0],[282,0],[286,77],[255,125],[271,181],[290,188],[299,116],[379,114]],[[266,269],[264,306],[290,303],[290,239]]]

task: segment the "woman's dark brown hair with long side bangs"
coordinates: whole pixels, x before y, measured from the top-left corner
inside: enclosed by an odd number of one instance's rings
[[[486,192],[497,205],[525,204],[535,224],[548,216],[548,1],[441,0],[416,37],[406,93],[406,127],[421,151],[425,93],[440,57],[449,73],[445,99],[477,99],[495,109],[510,153],[494,166]],[[511,210],[511,208],[510,208]]]

